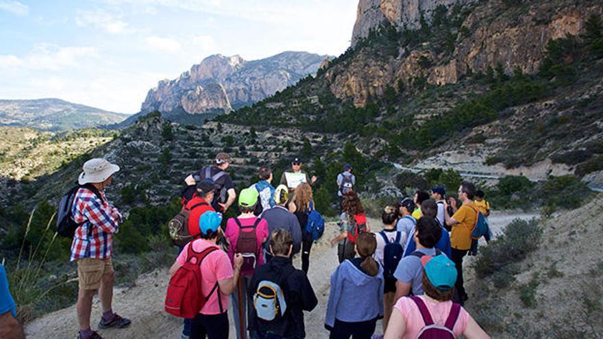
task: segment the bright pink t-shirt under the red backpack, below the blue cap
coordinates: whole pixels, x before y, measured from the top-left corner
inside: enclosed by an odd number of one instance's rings
[[[186,259],[188,259],[188,247],[190,244],[193,244],[193,251],[201,252],[204,249],[210,246],[216,246],[216,244],[205,240],[205,239],[197,239],[193,242],[189,242],[184,246],[180,255],[176,259],[178,264],[184,265]],[[232,264],[230,264],[230,260],[228,260],[228,256],[224,251],[218,249],[217,251],[213,251],[208,254],[206,258],[201,262],[201,293],[204,296],[210,294],[213,290],[214,286],[216,286],[217,281],[225,280],[231,278],[234,273],[232,272]],[[214,291],[210,298],[205,303],[204,307],[201,308],[199,313],[201,314],[220,314],[220,304],[218,303],[218,293],[220,294],[220,300],[222,302],[222,310],[226,312],[228,308],[228,296],[217,288],[217,291]]]

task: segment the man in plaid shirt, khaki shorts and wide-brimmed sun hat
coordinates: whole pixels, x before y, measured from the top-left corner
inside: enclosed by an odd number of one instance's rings
[[[111,261],[113,234],[119,231],[121,213],[111,205],[104,188],[111,184],[112,175],[119,166],[104,159],[88,160],[79,175],[80,187],[75,194],[71,216],[79,225],[71,243],[71,261],[77,262],[79,293],[77,294],[77,320],[79,339],[99,339],[90,329],[90,312],[97,290],[103,307],[99,328],[130,325],[130,320],[112,311],[114,271]]]

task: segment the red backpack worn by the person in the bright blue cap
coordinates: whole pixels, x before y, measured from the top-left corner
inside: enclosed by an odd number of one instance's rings
[[[201,308],[218,288],[218,282],[216,282],[207,297],[202,294],[201,262],[209,253],[217,250],[218,247],[210,246],[201,252],[195,252],[193,242],[190,242],[186,262],[178,268],[167,286],[165,312],[180,318],[195,318],[199,314]]]

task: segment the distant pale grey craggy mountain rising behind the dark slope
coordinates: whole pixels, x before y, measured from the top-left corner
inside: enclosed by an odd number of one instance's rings
[[[172,112],[182,107],[188,114],[230,112],[316,73],[324,58],[306,52],[284,52],[254,61],[212,55],[178,79],[160,81],[149,90],[140,110]]]

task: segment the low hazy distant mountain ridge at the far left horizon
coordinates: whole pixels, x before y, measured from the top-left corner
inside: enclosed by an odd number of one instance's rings
[[[129,114],[71,103],[61,99],[0,99],[0,125],[66,131],[120,123]]]

